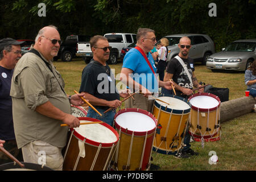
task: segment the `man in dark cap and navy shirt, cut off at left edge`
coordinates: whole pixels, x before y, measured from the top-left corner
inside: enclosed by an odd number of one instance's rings
[[[14,67],[22,56],[20,51],[22,43],[24,42],[11,38],[0,40],[0,139],[5,140],[5,149],[21,161],[22,152],[17,147],[14,135],[10,88]],[[0,152],[0,164],[12,161]]]

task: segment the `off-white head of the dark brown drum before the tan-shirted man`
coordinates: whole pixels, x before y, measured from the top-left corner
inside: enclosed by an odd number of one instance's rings
[[[80,120],[81,123],[83,122],[91,122]],[[117,137],[108,129],[108,127],[101,125],[99,123],[96,124],[89,124],[89,125],[80,125],[79,127],[75,128],[76,132],[82,135],[82,137],[93,140],[94,142],[98,143],[113,143],[117,141]],[[86,142],[86,140],[85,140]]]

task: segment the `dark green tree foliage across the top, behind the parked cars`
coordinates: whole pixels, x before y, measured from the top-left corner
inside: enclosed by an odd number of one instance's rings
[[[3,1],[3,0],[1,0]],[[158,39],[179,33],[208,34],[220,51],[226,44],[256,38],[256,0],[215,0],[217,16],[210,17],[212,0],[11,0],[1,3],[1,37],[34,39],[43,26],[54,24],[61,38],[69,34],[103,35],[152,28]],[[46,4],[46,17],[38,4]]]

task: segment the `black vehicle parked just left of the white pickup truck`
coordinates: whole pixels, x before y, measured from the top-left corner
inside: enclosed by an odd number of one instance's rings
[[[64,42],[61,43],[58,55],[54,57],[54,60],[72,61],[73,57],[76,56],[77,43],[89,40],[89,35],[68,35]]]

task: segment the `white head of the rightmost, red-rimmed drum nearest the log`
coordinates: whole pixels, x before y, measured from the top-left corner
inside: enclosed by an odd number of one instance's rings
[[[196,96],[189,100],[190,104],[199,109],[210,109],[218,106],[218,100],[210,96]]]

